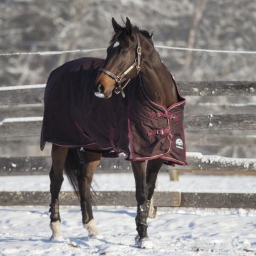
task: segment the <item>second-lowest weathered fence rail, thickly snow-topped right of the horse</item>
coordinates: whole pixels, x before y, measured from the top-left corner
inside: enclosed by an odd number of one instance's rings
[[[96,172],[130,172],[130,161],[121,156],[116,159],[102,158]],[[176,165],[175,170],[239,170],[256,172],[256,159],[232,159],[217,155],[187,153],[186,166]],[[172,169],[163,165],[162,171]],[[51,157],[0,157],[0,175],[44,175],[51,169]]]

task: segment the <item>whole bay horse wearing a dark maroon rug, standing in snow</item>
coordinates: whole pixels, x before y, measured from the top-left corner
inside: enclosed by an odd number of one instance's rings
[[[123,152],[135,178],[135,242],[151,249],[147,218],[159,169],[163,163],[186,164],[185,99],[155,51],[152,34],[128,18],[124,26],[112,18],[112,26],[105,60],[66,62],[47,80],[41,149],[52,143],[51,239],[62,238],[59,192],[64,169],[80,198],[88,236],[101,237],[92,214],[92,177],[102,156]]]

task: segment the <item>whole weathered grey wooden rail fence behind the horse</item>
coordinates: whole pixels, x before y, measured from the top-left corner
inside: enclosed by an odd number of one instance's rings
[[[256,96],[256,82],[177,82],[177,85],[183,96]],[[43,96],[44,85],[0,87],[1,144],[6,145],[6,147],[10,145],[13,147],[14,143],[16,143],[16,147],[17,145],[26,146],[28,142],[31,143],[29,138],[34,138],[32,136],[39,137]],[[197,108],[197,106],[190,103],[186,109],[192,108]],[[256,130],[255,105],[244,104],[237,109],[239,111],[232,114],[220,114],[223,110],[221,106],[217,114],[201,114],[200,111],[199,114],[190,114],[190,111],[185,111],[186,143],[191,145],[243,144],[247,147],[255,147],[255,134],[232,134],[234,130]],[[224,131],[230,133],[224,135],[222,134]],[[256,159],[232,159],[188,153],[187,162],[189,165],[175,167],[175,169],[256,172]],[[50,165],[49,156],[0,157],[0,175],[48,174]],[[166,168],[162,171],[166,171]],[[101,167],[97,171],[131,172],[131,166],[130,162],[124,160],[124,157],[111,160],[102,159]],[[0,192],[0,205],[47,205],[50,200],[49,196],[49,192],[40,191]],[[134,192],[96,192],[96,197],[97,205],[136,205]],[[74,200],[73,192],[62,192],[61,198],[62,205],[79,205],[78,200]],[[158,207],[241,207],[256,209],[256,194],[156,191],[154,205]]]

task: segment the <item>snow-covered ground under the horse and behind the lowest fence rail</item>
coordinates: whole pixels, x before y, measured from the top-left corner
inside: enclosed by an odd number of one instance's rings
[[[132,174],[96,174],[97,190],[134,190]],[[0,190],[49,190],[47,175],[0,177]],[[159,190],[255,192],[256,176],[159,175]],[[62,190],[71,190],[67,179]],[[0,255],[256,255],[256,210],[158,209],[149,219],[154,249],[134,243],[134,207],[97,207],[104,239],[88,239],[79,207],[61,207],[63,242],[49,240],[49,207],[0,207]]]

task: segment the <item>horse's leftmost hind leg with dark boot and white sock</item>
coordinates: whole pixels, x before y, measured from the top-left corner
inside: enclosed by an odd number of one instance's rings
[[[52,144],[52,167],[50,171],[50,192],[51,192],[51,204],[50,204],[50,227],[52,230],[51,240],[62,240],[61,234],[61,216],[59,214],[59,192],[61,191],[61,185],[64,180],[63,170],[65,160],[67,157],[67,148],[60,147]]]

